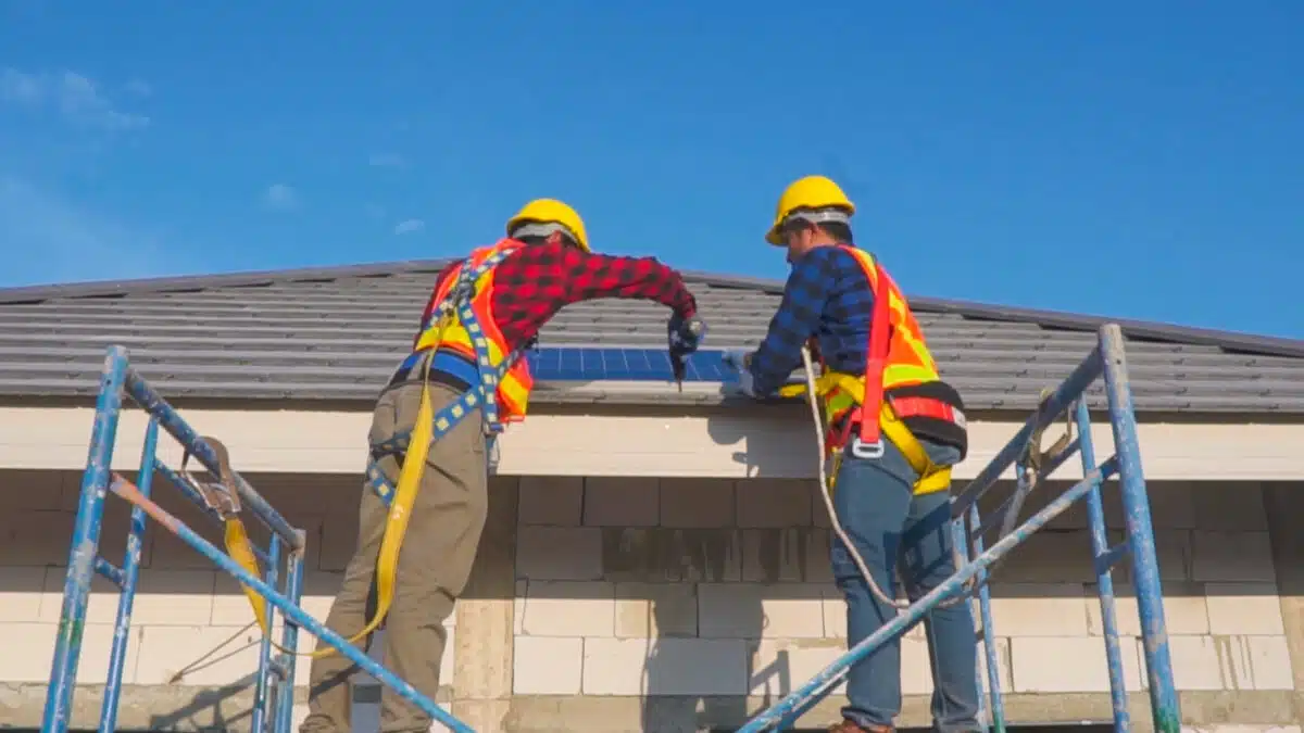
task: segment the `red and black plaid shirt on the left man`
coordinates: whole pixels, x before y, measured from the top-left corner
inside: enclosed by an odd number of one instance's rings
[[[456,265],[439,273],[421,322],[430,316],[434,293]],[[490,307],[509,350],[535,338],[566,305],[599,297],[653,300],[685,318],[698,312],[698,303],[679,273],[655,257],[592,254],[558,240],[526,245],[493,271]]]

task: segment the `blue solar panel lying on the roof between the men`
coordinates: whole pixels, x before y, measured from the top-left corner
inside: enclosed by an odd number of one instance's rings
[[[725,365],[724,351],[699,351],[687,359],[685,382],[735,382],[737,373]],[[545,382],[591,382],[617,380],[668,382],[674,380],[670,355],[664,348],[548,347],[526,352],[529,370]]]

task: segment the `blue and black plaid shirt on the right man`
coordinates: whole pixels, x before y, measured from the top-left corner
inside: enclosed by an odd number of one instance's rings
[[[865,372],[874,291],[861,263],[836,247],[818,247],[793,263],[784,300],[751,359],[758,395],[777,390],[802,364],[802,344],[816,337],[825,364]]]

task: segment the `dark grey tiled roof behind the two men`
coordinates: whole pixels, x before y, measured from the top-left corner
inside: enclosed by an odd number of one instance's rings
[[[442,262],[0,290],[0,395],[91,395],[104,348],[173,398],[370,399],[407,352]],[[686,274],[711,347],[754,347],[782,283]],[[1104,318],[911,299],[975,410],[1028,410],[1090,351]],[[591,301],[544,346],[664,346],[665,309]],[[1116,321],[1118,322],[1118,321]],[[1304,342],[1123,321],[1138,410],[1304,415]],[[1089,390],[1101,399],[1099,385]],[[622,394],[542,385],[535,402],[719,402],[700,389]]]

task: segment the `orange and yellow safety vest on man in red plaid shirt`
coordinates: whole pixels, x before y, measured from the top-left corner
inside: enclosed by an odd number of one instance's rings
[[[524,247],[523,243],[514,239],[503,239],[497,244],[482,247],[471,253],[471,257],[459,262],[454,266],[452,271],[443,278],[438,290],[434,292],[432,299],[433,304],[438,304],[449,297],[450,291],[458,282],[458,275],[462,273],[462,267],[469,266],[472,270],[479,267],[486,258],[494,253],[506,250],[514,252]],[[486,342],[485,346],[489,347],[489,363],[490,368],[497,369],[502,360],[511,352],[511,347],[502,337],[502,331],[498,330],[498,323],[493,317],[493,274],[494,269],[490,267],[484,275],[475,283],[475,295],[471,299],[471,309],[476,314],[476,320],[480,322],[480,330],[482,338]],[[437,321],[438,309],[432,308],[430,313],[426,314],[425,321],[421,323],[421,331],[417,334],[413,343],[413,352],[422,352],[430,348],[434,350],[449,350],[459,356],[476,364],[476,350],[471,342],[471,335],[467,329],[462,325],[460,318],[458,318],[456,312],[449,316],[449,321],[439,327]],[[502,381],[498,382],[497,400],[501,407],[499,420],[503,423],[518,423],[524,420],[526,410],[529,403],[529,391],[535,386],[535,380],[529,374],[529,363],[522,356],[515,364],[507,370]]]

